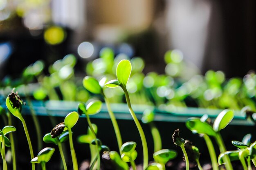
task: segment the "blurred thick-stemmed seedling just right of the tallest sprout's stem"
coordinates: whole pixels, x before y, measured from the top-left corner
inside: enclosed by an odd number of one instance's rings
[[[149,109],[146,109],[143,112],[141,121],[144,124],[149,124],[153,141],[154,141],[154,152],[157,152],[158,150],[162,149],[162,140],[161,140],[161,135],[159,133],[159,130],[157,129],[157,127],[153,122],[154,117],[155,117],[155,113]]]

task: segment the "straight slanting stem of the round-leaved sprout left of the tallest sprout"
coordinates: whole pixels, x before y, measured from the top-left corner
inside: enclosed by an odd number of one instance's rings
[[[112,124],[113,124],[113,127],[114,127],[114,130],[115,130],[115,134],[116,134],[116,137],[117,137],[117,144],[118,144],[118,148],[119,148],[119,152],[120,152],[120,149],[121,149],[121,146],[123,145],[123,142],[122,142],[122,138],[121,138],[121,133],[120,133],[120,130],[119,130],[119,126],[117,124],[117,120],[116,120],[116,117],[114,115],[114,113],[112,112],[111,110],[111,107],[110,107],[110,103],[108,101],[108,98],[103,94],[103,97],[105,99],[105,103],[106,103],[106,106],[108,108],[108,114],[109,114],[109,117],[112,121]],[[121,153],[121,152],[120,152]]]

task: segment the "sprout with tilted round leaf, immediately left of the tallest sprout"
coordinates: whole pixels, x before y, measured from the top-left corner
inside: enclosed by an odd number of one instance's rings
[[[101,82],[105,83],[105,79],[101,79]],[[91,76],[86,76],[86,77],[84,77],[84,79],[83,79],[83,86],[84,86],[88,91],[90,91],[91,93],[103,95],[104,100],[105,100],[105,103],[106,103],[106,106],[107,106],[107,108],[108,108],[108,114],[109,114],[110,119],[111,119],[111,121],[112,121],[114,130],[115,130],[115,134],[116,134],[116,137],[117,137],[118,148],[119,148],[119,150],[120,150],[120,148],[121,148],[123,142],[122,142],[122,138],[121,138],[121,133],[120,133],[120,130],[119,130],[119,126],[118,126],[118,124],[117,124],[117,120],[116,120],[116,118],[115,118],[115,115],[114,115],[114,113],[113,113],[112,110],[111,110],[110,102],[109,102],[108,98],[106,97],[106,95],[104,94],[102,87],[100,86],[100,84],[99,84],[99,82],[97,81],[97,79],[95,79],[95,78],[93,78],[93,77],[91,77]]]

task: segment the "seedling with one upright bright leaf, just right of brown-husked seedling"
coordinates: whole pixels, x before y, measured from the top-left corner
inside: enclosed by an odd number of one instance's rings
[[[73,128],[76,125],[76,122],[78,121],[78,119],[79,119],[79,114],[77,112],[71,112],[71,113],[67,114],[67,116],[64,119],[65,127],[68,130],[68,137],[69,137],[69,141],[70,141],[70,152],[71,152],[74,170],[78,170],[78,164],[77,164],[77,159],[76,159],[76,152],[74,150],[71,128]]]

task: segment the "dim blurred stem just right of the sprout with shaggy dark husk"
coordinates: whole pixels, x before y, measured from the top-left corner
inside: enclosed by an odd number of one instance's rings
[[[31,100],[29,99],[29,97],[26,95],[26,100],[27,100],[27,104],[29,106],[29,110],[31,112],[31,116],[32,116],[32,119],[34,121],[34,125],[35,125],[35,128],[36,128],[36,137],[37,137],[37,143],[38,143],[38,150],[40,150],[42,147],[43,147],[43,142],[42,142],[42,130],[40,128],[40,123],[38,121],[38,118],[36,116],[36,112],[34,110],[34,108],[32,107],[32,104],[31,104]]]

